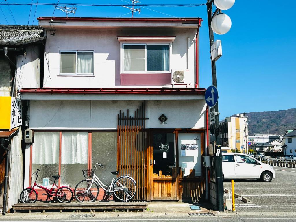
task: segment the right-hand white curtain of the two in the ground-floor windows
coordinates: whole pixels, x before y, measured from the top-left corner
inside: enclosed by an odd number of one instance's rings
[[[88,132],[62,132],[61,164],[87,164]]]

